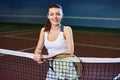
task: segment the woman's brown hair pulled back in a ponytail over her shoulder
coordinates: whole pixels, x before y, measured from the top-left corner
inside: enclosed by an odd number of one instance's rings
[[[59,4],[52,4],[52,5],[50,5],[48,7],[48,12],[49,12],[50,8],[60,8],[62,10],[62,6],[60,6]],[[50,29],[51,29],[51,23],[50,23],[49,19],[47,19],[47,22],[46,22],[46,24],[45,24],[44,27],[45,27],[44,31],[50,31]]]

